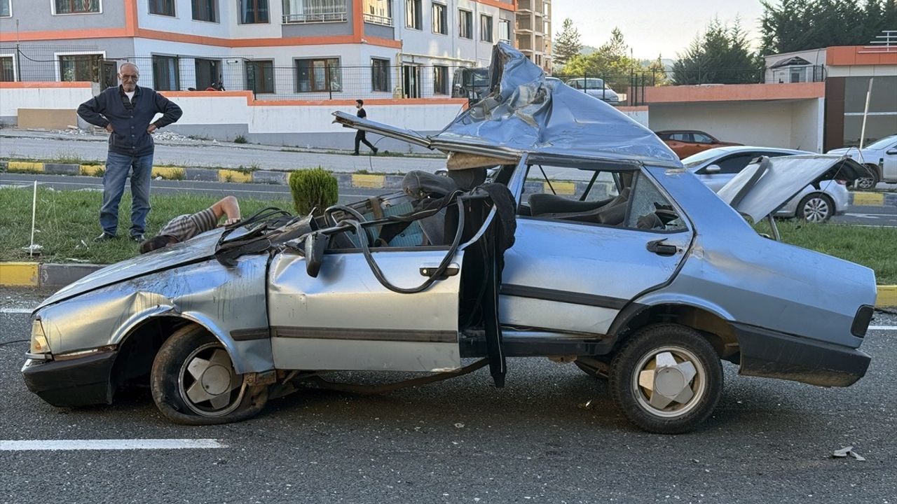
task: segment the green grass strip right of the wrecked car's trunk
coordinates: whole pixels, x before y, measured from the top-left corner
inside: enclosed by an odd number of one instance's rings
[[[782,241],[840,257],[875,270],[879,284],[897,283],[897,228],[867,228],[839,224],[777,222]],[[766,222],[755,226],[769,234]]]

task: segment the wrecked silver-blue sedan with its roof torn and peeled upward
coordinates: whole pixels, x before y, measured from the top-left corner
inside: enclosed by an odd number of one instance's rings
[[[864,376],[873,272],[747,222],[856,163],[762,158],[717,196],[515,49],[495,48],[490,76],[438,135],[335,113],[448,152],[448,177],[411,172],[323,215],[263,211],[58,291],[33,315],[30,390],[102,404],[148,380],[167,418],[209,424],[301,387],[388,391],[485,366],[501,387],[507,358],[549,357],[608,378],[641,429],[675,433],[713,411],[723,360],[823,387]],[[365,388],[328,379],[339,370],[427,374]]]

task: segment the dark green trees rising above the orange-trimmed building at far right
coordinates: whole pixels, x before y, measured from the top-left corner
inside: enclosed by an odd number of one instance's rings
[[[761,53],[862,46],[897,27],[894,0],[762,0]]]

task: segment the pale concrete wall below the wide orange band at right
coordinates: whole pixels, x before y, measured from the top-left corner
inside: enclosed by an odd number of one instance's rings
[[[718,139],[822,152],[823,99],[651,104],[650,127],[698,129]]]

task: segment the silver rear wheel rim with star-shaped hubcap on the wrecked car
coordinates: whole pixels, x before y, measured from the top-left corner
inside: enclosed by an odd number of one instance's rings
[[[688,413],[707,389],[707,374],[692,352],[666,346],[649,352],[636,365],[632,392],[651,414],[676,417]]]

